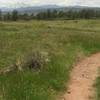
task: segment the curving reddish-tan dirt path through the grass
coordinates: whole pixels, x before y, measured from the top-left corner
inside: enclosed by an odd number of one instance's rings
[[[71,72],[68,92],[62,100],[94,100],[95,79],[100,67],[100,53],[80,61]]]

